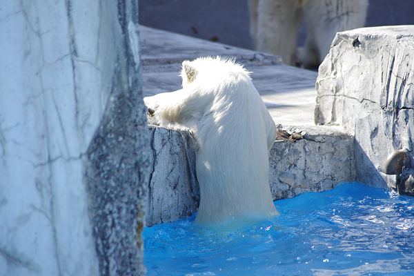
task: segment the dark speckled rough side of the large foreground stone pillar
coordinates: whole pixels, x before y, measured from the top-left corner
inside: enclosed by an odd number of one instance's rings
[[[88,148],[86,182],[101,275],[145,275],[150,148],[142,101],[138,1],[119,1],[121,49],[112,91]]]

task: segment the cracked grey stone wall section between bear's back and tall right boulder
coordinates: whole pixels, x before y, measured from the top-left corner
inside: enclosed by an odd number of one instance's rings
[[[353,136],[340,127],[282,127],[295,142],[277,140],[269,155],[269,183],[273,200],[306,192],[330,190],[353,181]]]

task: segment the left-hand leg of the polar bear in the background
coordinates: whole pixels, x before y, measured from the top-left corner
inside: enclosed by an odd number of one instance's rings
[[[259,0],[257,6],[257,50],[282,57],[285,64],[295,63],[297,29],[302,9],[296,1]]]

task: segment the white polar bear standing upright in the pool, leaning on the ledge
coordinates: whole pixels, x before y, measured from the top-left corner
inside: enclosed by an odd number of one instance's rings
[[[152,119],[194,128],[200,204],[195,223],[213,228],[277,215],[268,182],[276,126],[249,72],[234,61],[184,61],[183,88],[145,97]]]

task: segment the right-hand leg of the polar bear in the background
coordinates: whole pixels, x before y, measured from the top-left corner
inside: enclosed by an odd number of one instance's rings
[[[318,66],[328,55],[337,32],[364,26],[368,0],[307,0],[303,3],[308,34],[302,61]]]

